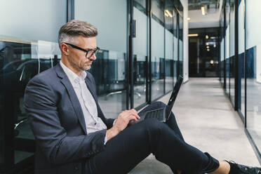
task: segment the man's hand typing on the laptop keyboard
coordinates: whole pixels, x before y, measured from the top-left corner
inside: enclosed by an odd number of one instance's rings
[[[135,109],[125,110],[119,114],[118,119],[116,119],[114,126],[107,130],[107,140],[114,138],[121,131],[123,131],[131,120],[138,121],[140,116]]]

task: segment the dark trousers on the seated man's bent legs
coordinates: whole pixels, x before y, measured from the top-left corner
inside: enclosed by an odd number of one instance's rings
[[[165,107],[154,102],[141,112]],[[128,173],[149,154],[170,166],[173,173],[209,173],[219,167],[219,162],[208,153],[188,145],[171,113],[166,123],[146,119],[129,126],[106,143],[105,151],[88,160],[88,173]]]

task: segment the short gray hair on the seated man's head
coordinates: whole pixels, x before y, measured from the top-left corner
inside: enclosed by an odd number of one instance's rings
[[[60,28],[58,44],[60,47],[62,43],[74,41],[74,36],[93,37],[97,35],[97,28],[88,22],[71,20]]]

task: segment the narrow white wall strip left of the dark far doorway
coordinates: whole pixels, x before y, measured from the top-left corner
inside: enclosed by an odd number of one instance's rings
[[[188,15],[188,0],[180,0],[183,6],[183,76],[184,82],[189,80],[189,23],[187,21]]]

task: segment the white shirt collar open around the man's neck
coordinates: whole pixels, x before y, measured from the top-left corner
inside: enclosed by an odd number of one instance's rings
[[[63,64],[62,61],[60,61],[60,65],[61,65],[62,69],[65,71],[65,74],[68,76],[68,79],[72,84],[79,83],[80,80],[84,81],[84,79],[86,78],[86,75],[87,75],[86,72],[82,71],[80,76],[78,76],[71,69],[66,67],[66,65]]]

